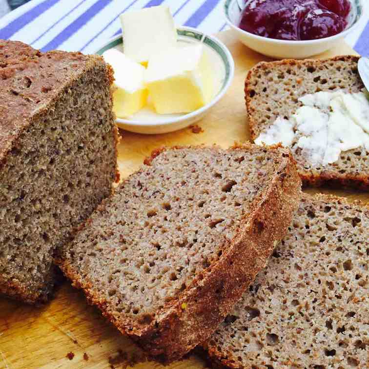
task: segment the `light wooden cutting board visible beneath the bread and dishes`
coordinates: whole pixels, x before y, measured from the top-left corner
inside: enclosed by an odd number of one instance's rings
[[[121,178],[137,170],[144,157],[158,146],[217,143],[226,148],[235,141],[242,143],[249,139],[244,80],[254,64],[267,58],[246,48],[230,31],[219,34],[219,38],[233,55],[235,78],[226,96],[198,123],[204,132],[196,134],[191,128],[185,128],[179,132],[145,136],[121,131],[123,138],[118,158]],[[352,53],[353,50],[342,43],[318,57]],[[318,191],[369,201],[366,193],[308,190],[310,193]],[[65,282],[56,291],[55,298],[41,308],[0,298],[0,368],[125,368],[127,360],[137,361],[141,357],[140,350],[107,323],[96,308],[88,306],[82,292],[70,287],[69,283]],[[205,367],[200,358],[192,355],[167,368]],[[134,368],[164,367],[141,362]]]

